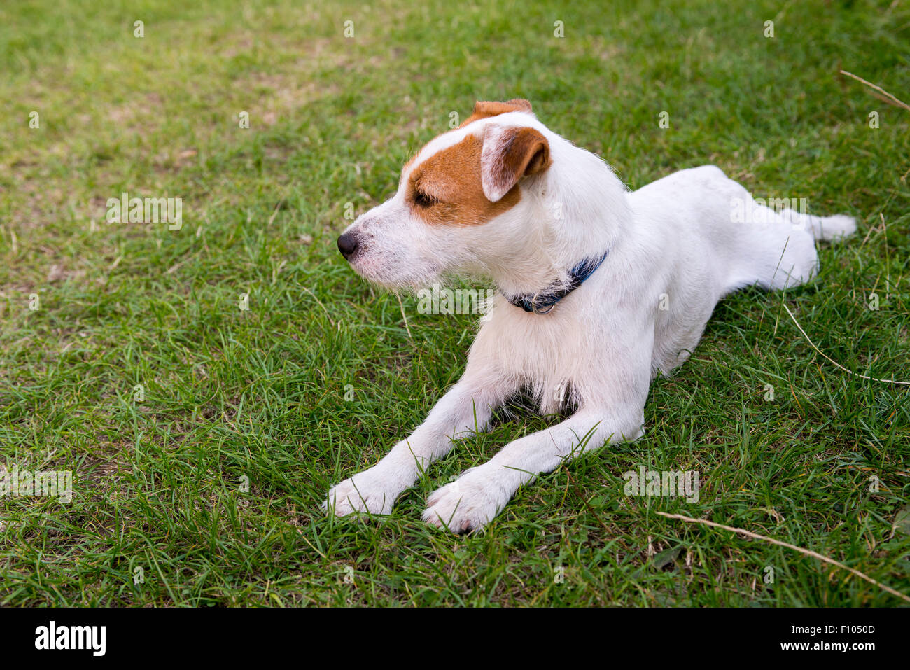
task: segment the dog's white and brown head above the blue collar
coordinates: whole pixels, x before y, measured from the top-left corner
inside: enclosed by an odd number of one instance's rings
[[[571,239],[561,221],[572,205],[557,200],[578,200],[564,187],[578,181],[579,161],[584,171],[585,159],[571,151],[606,168],[544,127],[527,100],[478,102],[403,167],[395,195],[351,224],[339,250],[362,277],[389,288],[450,273],[517,284],[549,273],[541,279],[549,283]]]

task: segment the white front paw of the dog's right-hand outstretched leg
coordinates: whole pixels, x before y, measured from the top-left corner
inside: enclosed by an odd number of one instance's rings
[[[479,471],[462,474],[459,479],[430,493],[423,520],[452,533],[470,533],[493,520],[509,502],[501,487]]]

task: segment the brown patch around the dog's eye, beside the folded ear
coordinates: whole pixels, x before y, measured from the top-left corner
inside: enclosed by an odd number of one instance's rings
[[[519,188],[496,202],[484,195],[482,153],[480,137],[469,135],[415,167],[405,196],[411,210],[432,225],[477,226],[515,207],[521,200]]]

